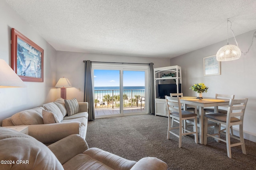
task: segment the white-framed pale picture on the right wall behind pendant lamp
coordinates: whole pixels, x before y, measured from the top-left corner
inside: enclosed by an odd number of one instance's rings
[[[216,55],[204,57],[204,76],[220,75],[220,62]]]

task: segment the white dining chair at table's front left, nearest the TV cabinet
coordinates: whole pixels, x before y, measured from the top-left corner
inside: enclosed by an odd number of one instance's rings
[[[197,133],[197,114],[190,111],[184,111],[181,109],[180,97],[165,96],[166,106],[168,110],[168,132],[167,139],[170,139],[170,134],[179,138],[179,148],[181,147],[182,136],[194,134],[195,143],[198,143]],[[178,120],[179,126],[173,127],[172,119]],[[194,119],[194,130],[190,131],[184,128],[183,121],[186,119]],[[179,134],[174,133],[172,130],[179,129]]]

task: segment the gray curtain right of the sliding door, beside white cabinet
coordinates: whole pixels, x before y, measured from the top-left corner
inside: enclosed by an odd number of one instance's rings
[[[149,113],[155,114],[154,63],[149,64]]]

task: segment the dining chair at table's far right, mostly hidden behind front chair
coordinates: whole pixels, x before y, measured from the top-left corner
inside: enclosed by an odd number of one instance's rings
[[[235,95],[228,95],[228,94],[215,94],[216,99],[234,99]],[[227,114],[228,106],[222,106],[222,108],[226,107],[226,109],[218,109],[218,113]],[[205,113],[214,113],[214,108],[204,108]],[[220,126],[219,126],[220,128]],[[231,135],[234,135],[233,133],[233,127],[230,127],[230,133]],[[219,129],[220,130],[220,129]]]

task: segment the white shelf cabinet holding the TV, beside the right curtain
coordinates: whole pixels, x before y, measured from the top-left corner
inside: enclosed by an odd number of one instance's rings
[[[162,84],[165,84],[165,85],[162,85]],[[168,67],[154,68],[154,87],[155,87],[155,115],[168,116],[164,95],[170,96],[169,90],[173,91],[173,93],[182,92],[181,67],[168,66]],[[161,87],[168,88],[168,89],[159,89]]]

